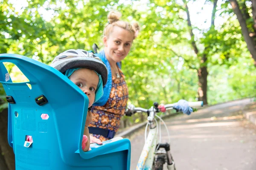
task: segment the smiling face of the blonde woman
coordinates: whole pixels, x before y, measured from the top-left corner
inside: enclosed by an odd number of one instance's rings
[[[134,35],[119,26],[114,26],[112,33],[103,38],[105,55],[109,62],[122,61],[130,51]]]

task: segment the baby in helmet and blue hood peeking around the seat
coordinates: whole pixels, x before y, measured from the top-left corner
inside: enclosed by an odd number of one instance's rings
[[[88,151],[90,150],[88,125],[92,121],[90,107],[103,96],[103,86],[108,79],[107,67],[99,57],[80,49],[64,51],[53,59],[51,66],[75,83],[89,99],[82,139],[82,149]],[[32,137],[27,136],[26,141],[32,142]]]

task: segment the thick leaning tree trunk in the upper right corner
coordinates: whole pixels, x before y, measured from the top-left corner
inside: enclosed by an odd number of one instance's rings
[[[246,21],[239,9],[239,5],[237,3],[236,0],[230,0],[230,4],[236,14],[236,17],[239,21],[239,24],[241,26],[242,29],[242,33],[244,35],[244,40],[247,44],[247,48],[250,51],[250,54],[252,55],[253,59],[254,59],[254,65],[256,66],[256,46],[255,43],[253,41],[253,38],[250,37],[250,33],[248,31],[247,25],[246,25]]]

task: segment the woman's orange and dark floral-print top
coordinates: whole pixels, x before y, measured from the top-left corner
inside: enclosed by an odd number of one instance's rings
[[[89,127],[99,127],[102,129],[117,130],[120,127],[120,119],[125,113],[128,101],[128,87],[125,82],[125,76],[119,69],[121,78],[117,79],[112,76],[112,88],[107,103],[104,106],[93,106],[93,120]],[[106,137],[93,134],[101,141],[108,140]]]

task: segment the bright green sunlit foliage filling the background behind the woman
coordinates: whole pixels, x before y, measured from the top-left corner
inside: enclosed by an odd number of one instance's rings
[[[136,106],[149,108],[153,102],[179,99],[196,101],[196,69],[203,54],[208,55],[209,104],[256,96],[256,69],[228,2],[223,1],[218,9],[218,15],[225,18],[223,24],[206,30],[193,27],[198,31],[198,56],[191,46],[184,4],[174,0],[28,0],[19,8],[9,1],[0,2],[0,53],[21,54],[46,64],[70,48],[91,50],[96,42],[102,49],[103,29],[110,10],[121,11],[123,20],[137,21],[140,34],[122,62],[129,103]],[[251,13],[250,7],[244,9]],[[252,22],[247,20],[249,27]],[[6,67],[13,71],[12,65]],[[2,87],[0,94],[4,99]],[[0,109],[5,107],[6,102]],[[123,119],[140,122],[141,117]]]

